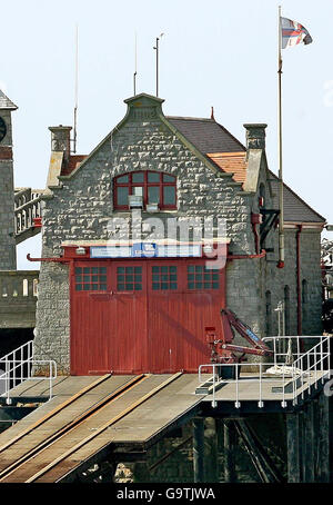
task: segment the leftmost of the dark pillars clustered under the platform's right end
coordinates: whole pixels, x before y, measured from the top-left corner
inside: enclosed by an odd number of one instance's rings
[[[300,416],[286,414],[287,482],[301,482]]]

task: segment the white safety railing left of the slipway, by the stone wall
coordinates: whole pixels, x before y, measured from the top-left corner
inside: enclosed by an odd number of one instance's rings
[[[48,374],[43,376],[33,376],[32,369],[42,366],[43,372],[47,368]],[[57,364],[54,360],[34,360],[33,359],[33,340],[28,341],[21,347],[12,350],[0,358],[0,396],[6,397],[6,403],[11,404],[12,389],[23,380],[48,380],[49,399],[52,398],[53,380],[57,378]]]

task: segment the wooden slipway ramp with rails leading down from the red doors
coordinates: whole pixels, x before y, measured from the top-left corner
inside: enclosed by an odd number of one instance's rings
[[[148,447],[202,399],[196,375],[105,375],[80,390],[82,377],[69,379],[64,394],[0,435],[0,483],[65,481],[105,449]]]

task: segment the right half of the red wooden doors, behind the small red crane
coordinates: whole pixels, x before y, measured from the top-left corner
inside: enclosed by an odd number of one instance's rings
[[[198,372],[210,358],[205,327],[221,326],[224,270],[204,260],[150,261],[148,293],[150,372]]]

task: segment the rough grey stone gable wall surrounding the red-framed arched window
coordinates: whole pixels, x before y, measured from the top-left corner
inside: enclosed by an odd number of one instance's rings
[[[59,254],[63,240],[108,239],[108,218],[123,216],[113,211],[113,178],[138,170],[163,171],[178,179],[178,210],[160,212],[160,218],[225,218],[228,236],[246,251],[252,246],[249,197],[202,158],[169,126],[155,98],[133,100],[124,119],[81,166],[60,178],[61,189],[52,188],[53,198],[43,210],[44,254]]]

